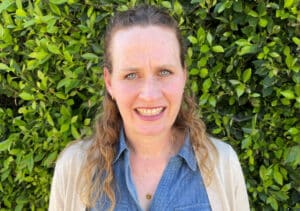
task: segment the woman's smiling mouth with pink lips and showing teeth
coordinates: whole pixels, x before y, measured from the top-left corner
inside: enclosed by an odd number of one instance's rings
[[[160,119],[166,107],[158,106],[158,107],[139,107],[134,109],[135,113],[144,121],[155,121]]]

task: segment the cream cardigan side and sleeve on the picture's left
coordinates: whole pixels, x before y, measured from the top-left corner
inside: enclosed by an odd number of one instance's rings
[[[77,191],[84,160],[83,142],[75,142],[59,156],[51,184],[49,211],[84,211]]]

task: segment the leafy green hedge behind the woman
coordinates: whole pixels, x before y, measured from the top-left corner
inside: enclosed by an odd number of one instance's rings
[[[101,109],[108,18],[141,2],[2,0],[0,210],[47,208],[58,153]],[[238,152],[251,208],[299,209],[299,0],[143,2],[179,21],[188,87]]]

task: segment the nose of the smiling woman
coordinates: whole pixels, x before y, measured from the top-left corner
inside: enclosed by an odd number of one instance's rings
[[[139,97],[144,101],[154,101],[161,97],[162,90],[159,81],[154,78],[146,78],[143,81]]]

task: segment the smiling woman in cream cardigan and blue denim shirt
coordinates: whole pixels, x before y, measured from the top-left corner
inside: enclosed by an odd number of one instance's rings
[[[58,159],[49,210],[249,210],[236,153],[206,135],[184,91],[184,56],[158,8],[111,20],[103,113],[94,137]]]

